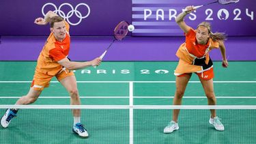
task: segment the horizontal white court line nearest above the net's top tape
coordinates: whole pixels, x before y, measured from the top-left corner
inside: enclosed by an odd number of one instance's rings
[[[1,98],[20,98],[20,96],[0,96]],[[70,96],[40,96],[39,98],[70,98]],[[80,96],[80,98],[174,98],[173,96]],[[183,98],[206,98],[206,96],[184,96]],[[216,98],[256,98],[256,96],[216,96]],[[132,102],[133,103],[133,102]],[[131,104],[132,105],[132,104]]]

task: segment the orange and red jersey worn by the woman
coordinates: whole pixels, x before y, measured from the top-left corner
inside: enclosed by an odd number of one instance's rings
[[[184,42],[177,50],[177,57],[180,58],[178,66],[174,72],[176,76],[184,73],[203,72],[206,69],[203,66],[195,65],[195,60],[205,58],[205,64],[210,61],[209,52],[212,48],[218,48],[218,42],[214,42],[211,38],[207,44],[198,44],[196,39],[196,31],[190,29],[186,33],[186,42]],[[207,69],[209,70],[209,69]]]

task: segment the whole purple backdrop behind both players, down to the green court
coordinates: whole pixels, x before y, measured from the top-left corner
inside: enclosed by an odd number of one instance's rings
[[[0,60],[35,61],[42,50],[45,36],[50,31],[49,26],[38,26],[33,21],[39,16],[43,17],[43,12],[56,10],[59,15],[66,16],[66,20],[70,21],[70,35],[95,36],[72,37],[70,58],[75,61],[87,61],[98,57],[111,43],[113,29],[121,20],[135,25],[133,37],[115,42],[104,57],[105,61],[175,61],[175,52],[184,42],[184,37],[136,36],[183,35],[174,18],[169,20],[169,11],[179,14],[186,5],[201,5],[212,1],[215,0],[1,0]],[[145,9],[152,11],[147,20],[144,20]],[[164,10],[164,20],[156,20],[157,10]],[[244,37],[239,38],[229,37],[226,42],[227,57],[231,61],[255,61],[255,12],[255,1],[241,0],[231,5],[207,5],[190,14],[190,18],[186,17],[185,20],[188,25],[195,28],[198,23],[210,16],[213,20],[207,21],[212,23],[213,31],[225,32],[229,36],[243,35]],[[246,35],[251,37],[245,37]],[[212,59],[221,60],[221,53],[218,50],[212,51],[211,55]]]

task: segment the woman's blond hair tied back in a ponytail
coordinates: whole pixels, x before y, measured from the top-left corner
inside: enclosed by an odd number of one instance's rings
[[[209,35],[210,35],[210,38],[212,38],[213,41],[217,41],[217,40],[226,40],[227,39],[227,35],[225,33],[212,33],[212,26],[210,23],[208,22],[202,22],[200,23],[199,25],[197,25],[197,28],[198,27],[206,27],[208,29],[208,32],[209,32]]]

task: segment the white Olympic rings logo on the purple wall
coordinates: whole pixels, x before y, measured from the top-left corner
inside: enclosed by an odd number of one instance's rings
[[[55,10],[53,10],[53,12],[55,12],[56,14],[59,14],[59,16],[61,16],[62,18],[64,18],[64,20],[67,20],[70,25],[79,25],[79,23],[81,23],[82,19],[83,19],[83,18],[87,18],[87,17],[89,16],[90,12],[91,12],[91,10],[90,10],[90,8],[89,8],[89,5],[87,5],[86,3],[79,3],[78,5],[76,5],[75,8],[73,8],[73,6],[72,6],[70,3],[62,3],[61,5],[59,5],[59,8],[57,8],[57,6],[56,6],[54,3],[46,3],[46,4],[44,4],[43,7],[42,7],[42,14],[43,14],[44,16],[45,16],[44,8],[45,8],[47,5],[52,5],[53,8],[55,8]],[[68,6],[71,8],[71,10],[70,10],[70,12],[68,12],[68,14],[65,14],[65,12],[63,12],[63,11],[61,10],[61,8],[62,8],[64,5],[68,5]],[[81,12],[79,12],[79,11],[77,10],[77,8],[79,8],[80,5],[84,5],[84,6],[87,8],[87,10],[88,10],[88,12],[87,12],[87,14],[86,14],[85,16],[83,16],[83,15],[81,14]],[[69,18],[70,18],[71,16],[73,16],[73,14],[75,14],[75,15],[79,18],[79,22],[77,22],[77,23],[71,23],[71,22],[70,22]]]

